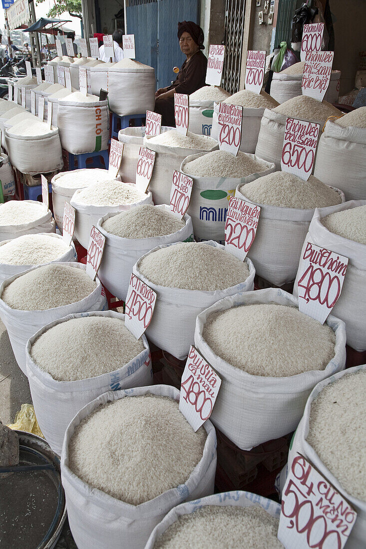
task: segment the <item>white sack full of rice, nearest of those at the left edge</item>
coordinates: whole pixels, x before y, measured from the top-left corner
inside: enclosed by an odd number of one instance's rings
[[[93,282],[81,263],[32,267],[0,285],[0,318],[8,330],[16,362],[25,374],[26,343],[38,330],[72,313],[107,308],[99,278]]]

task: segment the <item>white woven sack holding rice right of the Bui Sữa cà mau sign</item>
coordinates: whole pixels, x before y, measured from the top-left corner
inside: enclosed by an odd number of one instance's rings
[[[336,335],[334,358],[324,370],[290,377],[253,376],[235,368],[215,354],[202,337],[207,318],[216,311],[239,305],[273,303],[297,307],[297,299],[293,295],[269,288],[229,296],[197,316],[196,348],[221,378],[220,391],[210,420],[242,450],[251,450],[258,444],[277,439],[296,429],[310,391],[322,379],[344,369],[346,363],[345,323],[334,316],[326,320]]]

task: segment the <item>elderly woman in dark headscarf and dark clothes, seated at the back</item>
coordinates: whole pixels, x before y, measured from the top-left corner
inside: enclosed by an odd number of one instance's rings
[[[203,30],[193,21],[178,23],[179,46],[186,55],[176,80],[171,86],[160,88],[155,94],[155,112],[163,116],[163,126],[175,126],[174,94],[191,94],[205,85],[207,58],[201,52],[203,46]]]

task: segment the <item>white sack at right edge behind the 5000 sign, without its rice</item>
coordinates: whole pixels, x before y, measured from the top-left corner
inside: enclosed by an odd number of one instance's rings
[[[334,486],[334,488],[345,498],[345,500],[351,504],[351,506],[357,513],[357,519],[353,525],[351,534],[348,537],[348,540],[346,542],[347,549],[361,549],[361,547],[364,547],[365,545],[366,502],[359,500],[357,497],[354,497],[351,494],[348,494],[348,492],[341,485],[340,481],[330,472],[328,467],[326,467],[325,464],[320,460],[317,452],[315,452],[313,447],[310,446],[306,438],[309,433],[310,408],[311,408],[312,402],[319,395],[321,390],[326,385],[329,385],[330,383],[334,383],[337,379],[340,379],[341,377],[346,376],[348,374],[356,373],[361,369],[364,370],[365,368],[366,368],[366,365],[355,366],[354,368],[347,369],[344,372],[336,373],[334,374],[334,376],[331,376],[328,379],[324,379],[324,381],[321,381],[320,383],[318,383],[318,385],[313,389],[306,403],[306,408],[305,408],[303,417],[301,419],[301,422],[299,423],[295,436],[293,437],[292,445],[289,452],[289,458],[287,460],[287,466],[284,471],[284,473],[286,473],[287,475],[287,471],[291,470],[293,460],[298,455],[298,453],[301,453],[301,455],[304,458],[306,458],[306,460],[308,460],[319,471],[319,473],[323,475],[323,477],[325,477],[325,479],[331,483],[332,486]],[[331,421],[331,418],[329,419]],[[335,444],[337,444],[337,441],[335,441]],[[360,448],[360,451],[361,451],[361,448]],[[281,477],[282,477],[282,483],[284,484],[284,481],[286,478],[285,474],[281,475]],[[283,486],[281,486],[281,488],[283,489]]]

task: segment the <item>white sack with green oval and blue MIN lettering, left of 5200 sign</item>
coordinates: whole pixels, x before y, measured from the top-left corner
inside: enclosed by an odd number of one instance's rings
[[[267,169],[259,173],[251,173],[246,177],[197,177],[191,176],[185,170],[185,165],[207,153],[193,154],[182,161],[180,170],[193,179],[193,187],[188,206],[188,214],[192,217],[195,238],[202,240],[216,240],[225,244],[225,220],[229,209],[230,197],[234,196],[239,185],[250,183],[258,177],[275,171],[273,163],[257,158],[254,154],[248,156],[257,162],[265,164]]]

